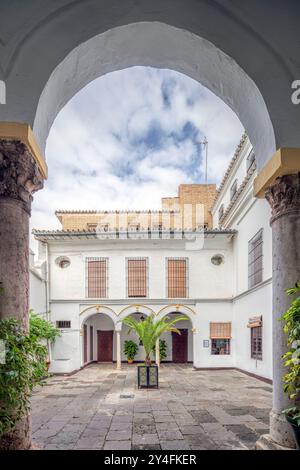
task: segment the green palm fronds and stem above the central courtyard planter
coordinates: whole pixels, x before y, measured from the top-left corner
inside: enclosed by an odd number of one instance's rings
[[[180,334],[180,331],[175,327],[176,323],[181,320],[187,320],[187,317],[180,316],[173,320],[169,317],[164,317],[161,320],[155,321],[154,315],[149,315],[144,320],[136,320],[128,316],[124,318],[124,325],[129,327],[128,333],[134,331],[140,339],[145,350],[145,364],[151,364],[151,352],[155,348],[156,341],[163,333],[168,331]]]

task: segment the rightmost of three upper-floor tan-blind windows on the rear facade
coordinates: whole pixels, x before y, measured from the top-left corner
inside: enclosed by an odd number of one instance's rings
[[[167,296],[169,298],[188,297],[188,259],[167,259]]]

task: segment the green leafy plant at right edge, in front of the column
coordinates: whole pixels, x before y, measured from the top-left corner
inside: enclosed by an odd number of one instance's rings
[[[287,335],[288,351],[282,356],[288,373],[283,377],[283,390],[293,406],[283,411],[292,426],[298,450],[300,450],[300,283],[288,289],[288,295],[297,295],[290,308],[282,315]]]

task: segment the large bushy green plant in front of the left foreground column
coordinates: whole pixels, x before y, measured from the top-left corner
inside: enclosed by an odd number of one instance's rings
[[[0,435],[14,428],[30,407],[30,393],[47,375],[48,348],[60,332],[31,312],[29,332],[16,319],[0,321],[5,361],[0,364]]]

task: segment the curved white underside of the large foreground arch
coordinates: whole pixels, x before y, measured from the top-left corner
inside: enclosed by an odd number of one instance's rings
[[[271,119],[254,81],[211,42],[160,22],[131,23],[94,36],[54,69],[33,126],[42,151],[55,117],[78,91],[104,74],[136,65],[181,72],[221,98],[249,135],[259,169],[275,152]]]

